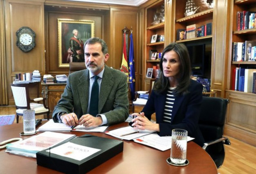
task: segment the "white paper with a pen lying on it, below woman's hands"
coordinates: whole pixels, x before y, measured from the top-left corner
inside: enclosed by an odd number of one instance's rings
[[[134,133],[139,131],[139,133]],[[132,140],[150,133],[154,133],[155,131],[146,131],[146,130],[137,130],[134,129],[131,126],[127,126],[127,127],[123,127],[123,128],[118,128],[118,129],[114,129],[112,131],[108,131],[106,132],[106,134],[111,135],[113,137],[119,138],[119,139],[125,139],[125,140]],[[133,133],[130,135],[124,135],[127,133]],[[120,136],[120,135],[124,135],[124,136]]]

